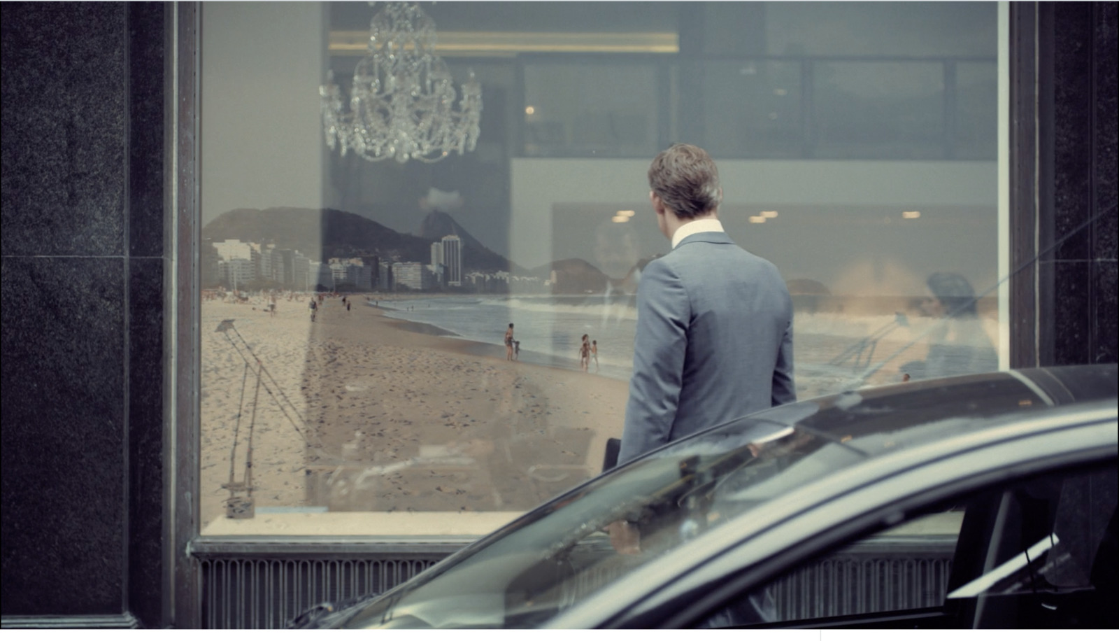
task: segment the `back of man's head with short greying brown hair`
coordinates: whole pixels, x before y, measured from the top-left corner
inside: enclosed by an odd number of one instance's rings
[[[695,145],[677,143],[658,154],[649,166],[649,188],[679,219],[714,212],[722,197],[715,161]]]

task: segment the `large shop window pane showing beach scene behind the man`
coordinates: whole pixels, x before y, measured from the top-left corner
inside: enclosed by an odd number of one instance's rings
[[[203,535],[480,535],[596,474],[677,141],[789,287],[800,398],[998,366],[995,4],[417,7],[414,87],[366,56],[415,9],[203,6]],[[397,97],[341,154],[356,76]],[[440,122],[477,143],[417,159]]]

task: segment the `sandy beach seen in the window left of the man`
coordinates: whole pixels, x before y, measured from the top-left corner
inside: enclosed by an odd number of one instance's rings
[[[621,436],[626,382],[350,300],[314,323],[307,297],[274,317],[203,303],[203,533],[485,533],[596,474]],[[254,517],[228,518],[246,479]]]

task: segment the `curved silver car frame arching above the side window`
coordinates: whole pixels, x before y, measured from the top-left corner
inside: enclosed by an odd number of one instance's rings
[[[1025,422],[859,466],[838,475],[841,479],[834,484],[835,493],[814,504],[794,507],[783,517],[767,520],[758,518],[765,514],[747,513],[720,528],[722,537],[715,540],[721,545],[693,541],[608,586],[547,626],[688,626],[749,586],[764,585],[862,533],[896,524],[906,511],[1027,474],[1113,461],[1119,452],[1113,403],[1047,412]],[[803,492],[792,493],[790,502],[797,502],[797,494]],[[739,532],[741,536],[735,536]],[[935,613],[924,610],[913,615],[928,619]],[[845,624],[873,624],[872,619],[884,616],[891,625],[901,624],[903,619],[900,612],[877,613]],[[784,626],[793,628],[796,622]]]

